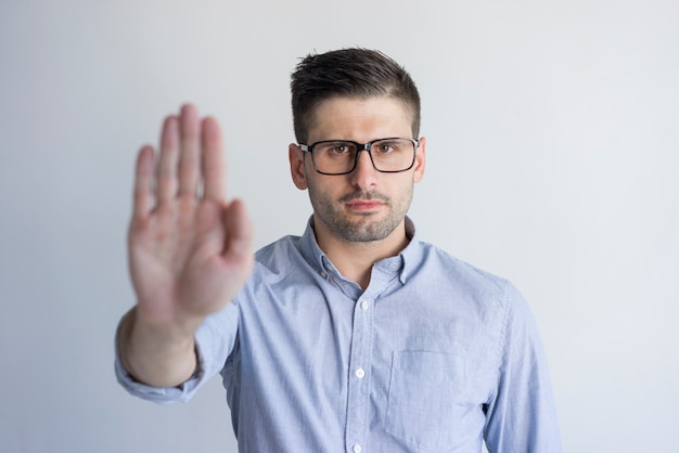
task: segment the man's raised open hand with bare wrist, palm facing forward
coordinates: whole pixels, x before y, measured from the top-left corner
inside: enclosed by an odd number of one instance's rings
[[[252,224],[241,202],[226,202],[223,166],[219,126],[192,105],[166,118],[157,159],[152,146],[139,153],[128,234],[137,306],[118,327],[117,348],[146,385],[192,376],[196,329],[252,271]]]

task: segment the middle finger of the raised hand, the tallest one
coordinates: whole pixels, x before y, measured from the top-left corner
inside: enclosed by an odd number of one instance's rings
[[[198,111],[190,104],[182,106],[179,122],[179,196],[196,196],[201,158]]]

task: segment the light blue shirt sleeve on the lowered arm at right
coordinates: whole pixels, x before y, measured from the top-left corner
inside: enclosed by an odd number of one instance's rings
[[[537,325],[523,296],[511,285],[505,302],[497,392],[486,414],[486,445],[490,453],[561,453],[554,398]]]

